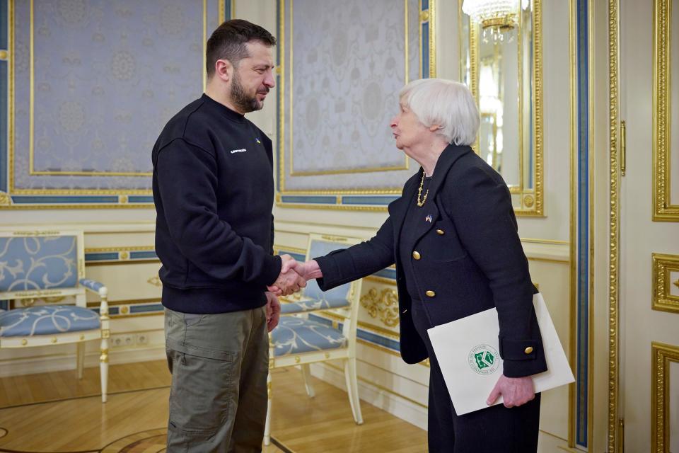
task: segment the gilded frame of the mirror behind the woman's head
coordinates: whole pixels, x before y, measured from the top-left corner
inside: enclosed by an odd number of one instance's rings
[[[463,52],[463,45],[461,44],[463,40],[467,40],[469,48],[468,55],[465,57],[461,55],[460,64],[463,67],[460,68],[460,73],[462,75],[462,80],[468,83],[472,95],[479,101],[479,77],[480,77],[480,26],[477,23],[470,21],[469,34],[464,36],[463,33],[463,11],[462,11],[462,1],[460,1],[458,7],[458,26],[460,27],[460,51]],[[519,15],[521,17],[521,15]],[[532,166],[534,180],[533,187],[528,188],[524,184],[523,178],[523,159],[527,159],[523,156],[523,151],[518,154],[519,159],[519,183],[516,185],[509,186],[509,191],[512,194],[514,212],[518,216],[528,216],[528,217],[543,217],[544,214],[544,160],[543,160],[543,129],[542,129],[542,0],[533,0],[533,40],[532,40],[532,53],[533,53],[533,73],[530,74],[531,85],[533,86],[533,96],[530,96],[532,100],[532,105],[530,108],[533,112],[533,124],[530,125],[533,131],[533,150],[535,154],[533,155],[533,162],[530,162]],[[521,25],[519,25],[519,35],[521,36]],[[519,39],[521,42],[521,38]],[[519,76],[523,78],[523,71],[521,69],[521,45],[518,45],[518,62],[519,64]],[[468,61],[467,61],[468,58]],[[467,65],[468,67],[464,67]],[[519,84],[519,103],[523,102],[523,84]],[[520,107],[520,111],[521,111]],[[521,127],[521,122],[525,121],[520,115],[519,125]],[[478,138],[475,144],[475,150],[478,150]],[[478,152],[478,151],[477,151]]]

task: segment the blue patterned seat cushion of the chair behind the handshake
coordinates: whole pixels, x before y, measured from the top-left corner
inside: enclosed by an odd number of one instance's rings
[[[281,316],[278,327],[272,331],[272,342],[276,357],[347,346],[341,331],[296,316]]]

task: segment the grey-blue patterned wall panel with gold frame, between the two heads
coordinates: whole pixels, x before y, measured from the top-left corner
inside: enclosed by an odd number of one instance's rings
[[[278,6],[279,205],[386,205],[415,171],[389,125],[400,88],[434,71],[433,2]]]

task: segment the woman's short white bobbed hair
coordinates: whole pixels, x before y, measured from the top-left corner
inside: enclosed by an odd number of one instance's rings
[[[419,79],[398,93],[400,103],[412,110],[426,127],[436,131],[448,143],[470,145],[479,130],[479,109],[467,86],[444,79]]]

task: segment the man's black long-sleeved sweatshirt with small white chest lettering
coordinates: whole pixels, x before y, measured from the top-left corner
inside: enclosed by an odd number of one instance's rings
[[[203,94],[153,147],[163,305],[182,313],[254,309],[278,277],[269,137]]]

